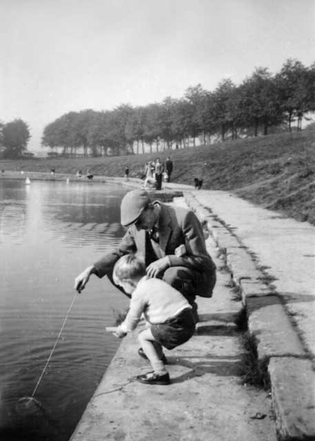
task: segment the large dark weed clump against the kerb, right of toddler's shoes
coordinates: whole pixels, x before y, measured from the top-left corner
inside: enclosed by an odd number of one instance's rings
[[[243,347],[245,349],[241,359],[241,376],[243,383],[265,389],[265,391],[269,390],[268,359],[258,360],[256,339],[248,332],[243,335]]]

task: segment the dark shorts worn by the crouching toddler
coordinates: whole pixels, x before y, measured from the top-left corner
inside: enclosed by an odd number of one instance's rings
[[[170,318],[164,323],[151,325],[151,332],[155,340],[163,347],[174,349],[192,337],[195,327],[192,308],[185,308],[178,316]]]

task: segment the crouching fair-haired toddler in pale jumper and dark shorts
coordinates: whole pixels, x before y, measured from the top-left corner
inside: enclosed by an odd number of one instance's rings
[[[114,266],[114,283],[131,295],[130,309],[114,335],[123,338],[133,331],[141,315],[150,323],[138,335],[139,356],[149,360],[153,372],[136,376],[144,384],[170,384],[163,347],[174,349],[187,342],[196,327],[192,307],[176,289],[145,274],[145,264],[134,254],[121,257]]]

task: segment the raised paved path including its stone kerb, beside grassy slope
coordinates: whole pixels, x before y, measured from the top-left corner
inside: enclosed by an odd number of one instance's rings
[[[200,217],[207,218],[241,291],[258,362],[267,366],[279,439],[315,440],[314,227],[281,218],[224,192],[187,193],[186,201]],[[276,228],[279,223],[282,227]],[[265,236],[260,236],[260,229]],[[282,230],[282,243],[278,229]],[[270,266],[261,265],[264,249]],[[282,256],[282,265],[277,254]],[[291,285],[291,296],[278,290],[283,284]]]

